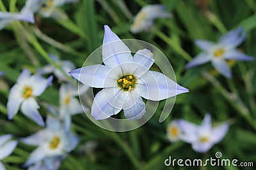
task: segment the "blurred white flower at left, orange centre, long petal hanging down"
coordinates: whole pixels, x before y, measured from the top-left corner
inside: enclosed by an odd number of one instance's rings
[[[44,126],[44,120],[38,112],[40,106],[36,102],[36,97],[44,92],[51,81],[52,76],[48,79],[38,74],[31,76],[30,71],[24,69],[20,73],[17,83],[10,89],[7,103],[8,118],[12,119],[20,107],[24,115],[34,120],[38,125]]]

